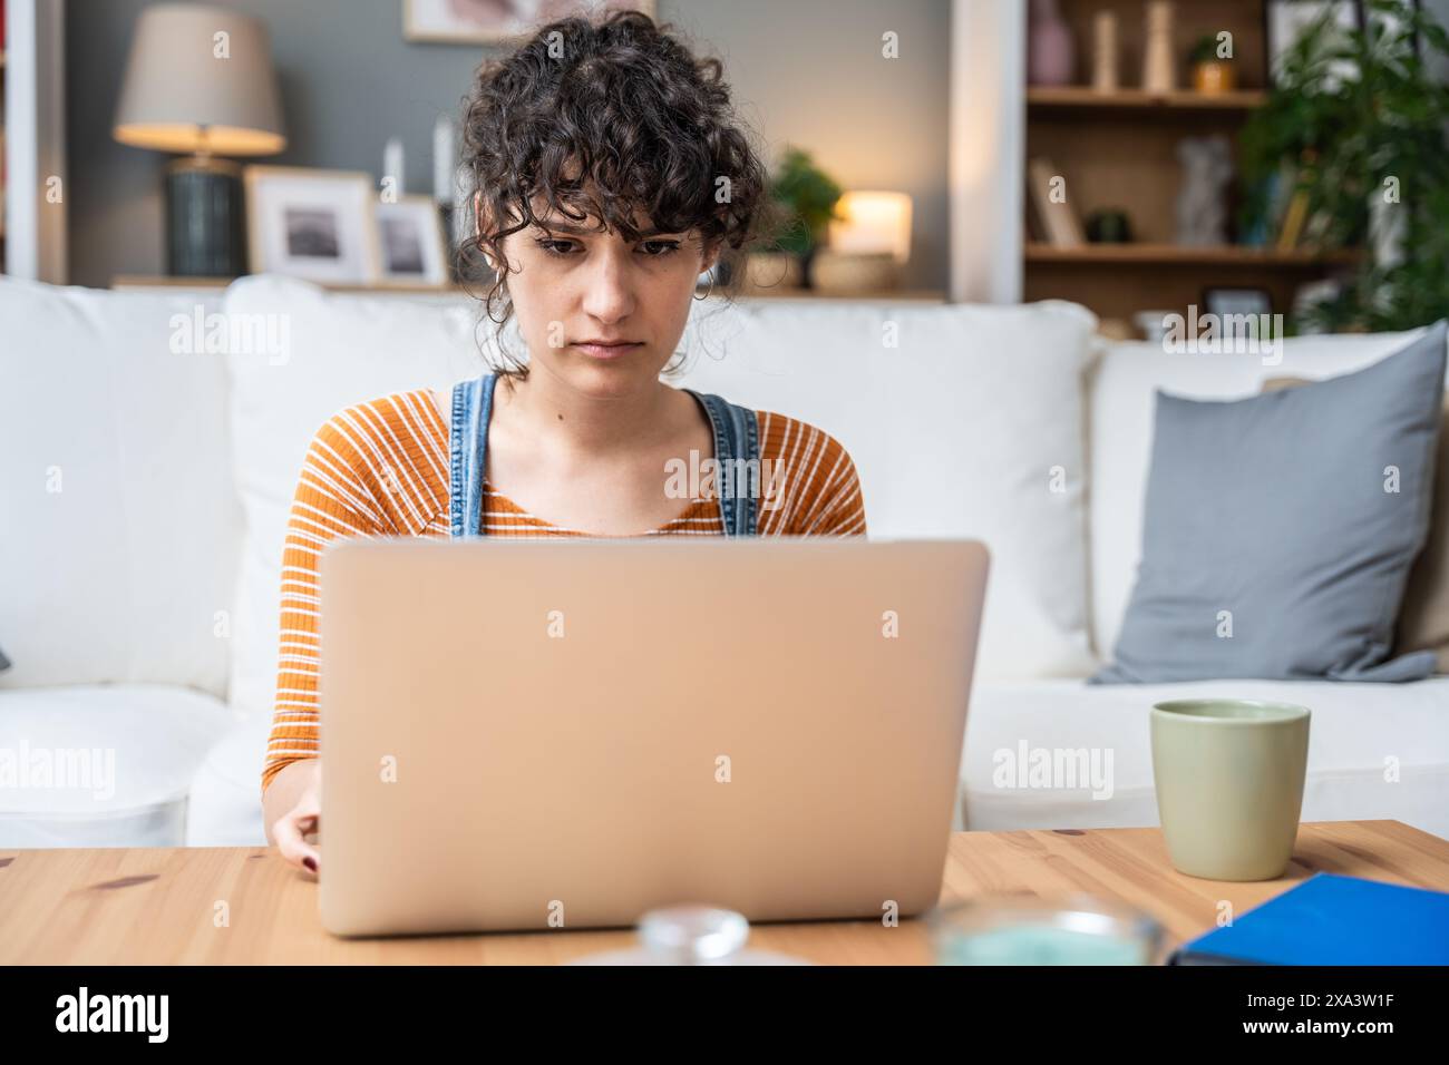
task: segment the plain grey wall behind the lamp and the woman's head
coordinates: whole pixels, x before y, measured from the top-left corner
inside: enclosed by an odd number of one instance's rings
[[[167,156],[110,136],[143,0],[71,0],[65,33],[71,281],[162,272]],[[400,136],[409,191],[432,190],[432,126],[455,114],[480,45],[409,43],[401,0],[230,0],[264,19],[288,148],[264,159],[377,175]],[[914,199],[909,287],[946,287],[946,113],[951,0],[659,0],[658,14],[724,62],[742,117],[768,146],[790,142],[846,188]],[[900,58],[881,58],[895,30]]]

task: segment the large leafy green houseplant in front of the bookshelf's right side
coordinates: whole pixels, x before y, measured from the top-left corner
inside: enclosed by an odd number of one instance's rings
[[[1449,85],[1424,64],[1449,57],[1449,33],[1411,0],[1365,13],[1359,30],[1311,26],[1242,133],[1245,230],[1272,225],[1275,175],[1290,174],[1308,197],[1310,245],[1369,245],[1297,326],[1411,329],[1449,309]]]

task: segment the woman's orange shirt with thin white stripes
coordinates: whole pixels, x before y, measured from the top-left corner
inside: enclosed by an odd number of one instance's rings
[[[784,414],[756,413],[761,467],[778,478],[759,509],[761,536],[864,536],[855,464],[829,433]],[[277,704],[262,791],[290,762],[317,756],[320,606],[317,564],[345,536],[449,536],[448,425],[432,393],[359,403],[317,430],[301,467],[281,564]],[[593,536],[530,514],[484,480],[487,536]],[[717,497],[694,498],[643,536],[723,536]]]

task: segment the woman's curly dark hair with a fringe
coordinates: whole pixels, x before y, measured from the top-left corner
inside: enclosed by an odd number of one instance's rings
[[[720,61],[696,58],[671,26],[640,12],[551,22],[484,62],[462,139],[469,225],[456,270],[465,281],[493,275],[480,298],[500,333],[513,313],[503,241],[542,225],[535,197],[575,222],[601,219],[629,242],[639,239],[640,212],[658,232],[698,230],[706,251],[719,246],[724,271],[782,220]],[[526,365],[504,356],[511,365],[500,372],[526,377]]]

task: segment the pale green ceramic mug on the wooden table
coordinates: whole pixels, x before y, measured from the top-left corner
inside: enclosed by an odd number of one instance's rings
[[[1293,858],[1308,710],[1249,698],[1152,707],[1152,777],[1172,865],[1204,880],[1274,880]]]

